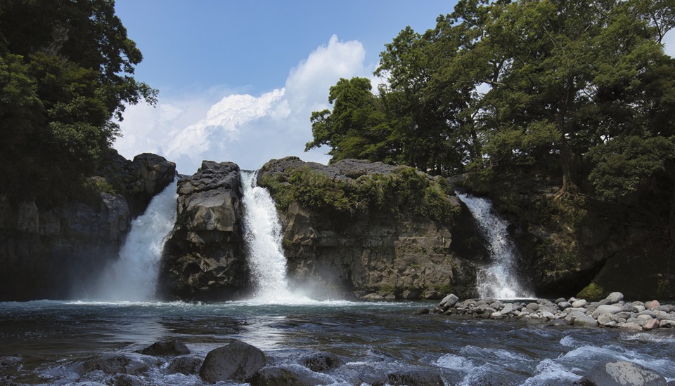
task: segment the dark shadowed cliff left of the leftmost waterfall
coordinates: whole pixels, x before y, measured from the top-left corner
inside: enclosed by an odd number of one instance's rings
[[[131,219],[175,174],[174,163],[154,154],[129,161],[113,152],[93,180],[118,194],[95,192],[87,204],[56,208],[0,197],[0,300],[86,295],[87,279],[117,258]]]

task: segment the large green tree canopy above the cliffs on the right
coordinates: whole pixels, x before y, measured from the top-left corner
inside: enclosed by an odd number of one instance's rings
[[[337,92],[355,79],[331,88],[308,149],[423,171],[534,168],[562,178],[560,195],[619,199],[664,176],[675,190],[673,27],[675,0],[460,0],[385,45],[364,104]],[[356,109],[359,125],[342,119]]]

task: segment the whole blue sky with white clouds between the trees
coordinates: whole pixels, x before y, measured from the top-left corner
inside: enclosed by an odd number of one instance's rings
[[[303,152],[312,111],[329,107],[340,77],[373,78],[384,46],[451,13],[455,0],[117,0],[143,52],[136,79],[160,90],[157,107],[127,107],[115,148],[154,152],[194,173],[203,159],[256,169]],[[373,86],[377,79],[373,78]]]

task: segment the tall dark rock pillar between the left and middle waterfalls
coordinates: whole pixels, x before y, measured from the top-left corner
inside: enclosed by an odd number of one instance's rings
[[[169,298],[228,300],[248,287],[239,166],[203,161],[178,182],[178,213],[165,244],[160,289]]]

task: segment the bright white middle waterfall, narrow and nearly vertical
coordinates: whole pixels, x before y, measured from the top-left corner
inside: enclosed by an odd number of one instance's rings
[[[267,189],[256,184],[256,173],[241,175],[244,204],[244,238],[248,262],[255,282],[255,297],[266,300],[293,300],[286,279],[286,258],[282,251],[281,223],[274,200]]]

